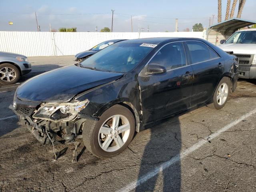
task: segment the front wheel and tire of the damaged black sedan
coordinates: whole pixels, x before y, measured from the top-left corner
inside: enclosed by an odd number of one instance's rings
[[[100,120],[86,120],[83,128],[83,142],[86,148],[99,158],[120,154],[132,141],[135,120],[132,112],[114,105],[107,109]]]

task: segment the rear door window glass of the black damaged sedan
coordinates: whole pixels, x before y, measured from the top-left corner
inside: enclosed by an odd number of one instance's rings
[[[197,41],[188,41],[187,45],[190,51],[192,64],[204,62],[211,59],[207,45]]]

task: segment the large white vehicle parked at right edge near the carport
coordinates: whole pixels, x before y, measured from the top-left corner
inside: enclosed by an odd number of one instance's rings
[[[238,77],[256,78],[256,28],[235,32],[228,40],[221,40],[219,47],[239,58]]]

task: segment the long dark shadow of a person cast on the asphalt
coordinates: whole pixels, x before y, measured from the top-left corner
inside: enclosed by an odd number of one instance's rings
[[[152,124],[149,129],[151,136],[142,156],[136,192],[180,191],[180,160],[173,164],[170,162],[179,156],[182,147],[180,121],[174,117],[158,126]],[[161,164],[166,162],[170,166],[161,170]]]

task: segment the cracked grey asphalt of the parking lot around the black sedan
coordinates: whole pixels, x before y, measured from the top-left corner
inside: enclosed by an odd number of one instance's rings
[[[73,64],[74,56],[29,58],[32,73]],[[0,191],[118,191],[138,182],[198,142],[256,109],[256,80],[239,80],[221,110],[202,107],[139,132],[120,155],[99,159],[82,140],[78,162],[73,144],[42,146],[8,109],[18,84],[0,87]],[[256,191],[256,114],[244,118],[131,191]],[[128,189],[126,190],[128,191]]]

